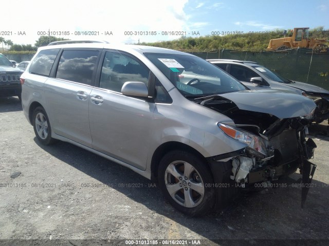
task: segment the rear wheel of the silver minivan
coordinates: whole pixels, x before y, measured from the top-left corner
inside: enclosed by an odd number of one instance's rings
[[[53,144],[54,139],[51,137],[51,127],[48,115],[44,108],[36,107],[32,116],[32,124],[36,138],[43,145]]]

